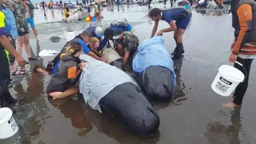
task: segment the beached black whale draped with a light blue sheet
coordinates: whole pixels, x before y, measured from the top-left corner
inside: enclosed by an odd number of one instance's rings
[[[163,38],[157,36],[143,41],[134,55],[134,78],[147,98],[156,101],[171,100],[175,91],[176,76]]]

